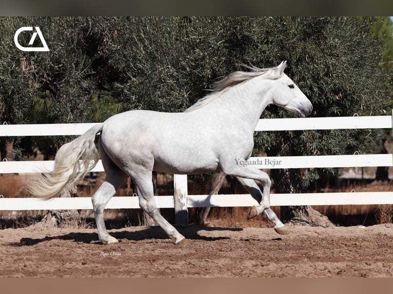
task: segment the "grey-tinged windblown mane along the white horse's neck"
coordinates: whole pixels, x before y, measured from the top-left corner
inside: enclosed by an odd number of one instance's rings
[[[212,93],[199,99],[195,104],[187,108],[185,112],[191,112],[201,107],[204,107],[206,104],[220,97],[224,90],[233,88],[234,86],[237,86],[240,83],[250,80],[256,76],[266,75],[266,78],[269,78],[269,74],[272,72],[273,69],[273,68],[260,69],[253,65],[247,66],[245,64],[240,64],[240,65],[251,71],[250,72],[236,71],[229,74],[228,76],[226,76],[221,80],[213,82],[211,85],[211,90],[209,90],[212,91]]]

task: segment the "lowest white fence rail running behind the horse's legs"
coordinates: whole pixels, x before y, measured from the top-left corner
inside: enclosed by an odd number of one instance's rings
[[[392,192],[353,192],[353,193],[302,193],[271,194],[271,206],[296,205],[347,205],[347,204],[393,204]],[[159,208],[173,208],[173,196],[156,196]],[[249,207],[257,205],[249,194],[237,195],[188,195],[187,207]],[[0,210],[30,211],[46,209],[93,209],[90,197],[54,198],[0,198]],[[138,197],[112,197],[106,208],[140,208]],[[179,209],[182,212],[184,209]]]

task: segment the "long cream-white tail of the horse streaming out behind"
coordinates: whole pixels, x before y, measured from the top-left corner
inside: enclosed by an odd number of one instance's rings
[[[100,159],[95,146],[95,136],[102,131],[103,124],[97,124],[83,135],[64,144],[57,151],[54,170],[42,174],[28,190],[36,197],[56,197],[68,182],[82,180]]]

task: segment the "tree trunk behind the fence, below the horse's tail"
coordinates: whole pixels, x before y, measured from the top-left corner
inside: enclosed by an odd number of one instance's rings
[[[73,183],[68,183],[58,197],[78,197],[76,186]],[[50,227],[78,227],[81,222],[80,212],[73,210],[48,211],[40,223],[37,225],[43,228]]]

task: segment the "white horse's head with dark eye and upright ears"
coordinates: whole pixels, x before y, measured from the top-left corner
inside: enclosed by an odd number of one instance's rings
[[[278,67],[272,69],[271,75],[274,76],[274,86],[270,90],[272,103],[306,117],[311,114],[312,104],[284,73],[285,65],[286,61],[283,61]]]

